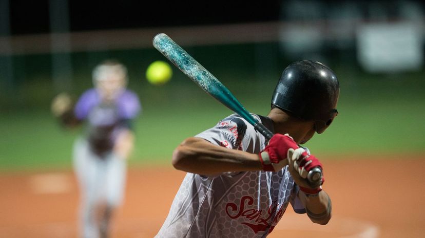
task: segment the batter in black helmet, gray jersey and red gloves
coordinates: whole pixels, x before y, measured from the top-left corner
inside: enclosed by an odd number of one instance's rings
[[[268,116],[253,114],[276,133],[271,140],[237,114],[184,140],[172,164],[187,174],[156,237],[266,237],[289,203],[314,223],[329,222],[324,179],[307,180],[308,171],[322,165],[298,144],[331,124],[338,97],[331,69],[297,61],[283,71]]]

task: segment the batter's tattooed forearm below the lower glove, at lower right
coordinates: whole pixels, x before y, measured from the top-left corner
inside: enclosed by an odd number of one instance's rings
[[[299,197],[304,203],[308,218],[314,223],[326,225],[332,217],[332,201],[325,191],[320,191],[315,197],[306,197],[299,191]]]

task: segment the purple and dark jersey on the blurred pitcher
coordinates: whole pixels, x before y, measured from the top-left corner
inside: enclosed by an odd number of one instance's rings
[[[120,130],[127,128],[128,121],[141,109],[138,96],[129,90],[123,91],[113,103],[105,103],[96,89],[90,89],[80,97],[74,114],[77,119],[88,122],[90,146],[96,154],[102,155],[113,148]]]

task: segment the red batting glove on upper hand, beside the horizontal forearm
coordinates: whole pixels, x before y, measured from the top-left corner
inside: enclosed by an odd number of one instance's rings
[[[287,151],[289,148],[298,148],[297,143],[287,134],[275,134],[262,150],[260,162],[264,171],[278,171],[287,165]]]

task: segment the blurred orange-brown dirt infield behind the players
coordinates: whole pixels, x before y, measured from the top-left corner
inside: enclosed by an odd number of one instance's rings
[[[288,209],[268,237],[425,236],[425,158],[329,160],[324,166],[331,222],[311,224]],[[171,166],[130,168],[112,237],[153,237],[184,175]],[[0,237],[76,237],[79,197],[71,171],[0,175],[0,191]]]

